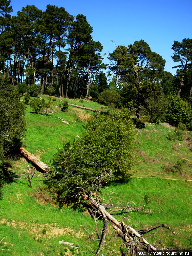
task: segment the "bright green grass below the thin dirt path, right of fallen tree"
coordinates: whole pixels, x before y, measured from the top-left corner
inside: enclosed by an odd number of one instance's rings
[[[168,224],[175,230],[175,236],[170,230],[160,228],[149,242],[162,240],[166,246],[183,246],[192,249],[191,241],[191,197],[192,182],[165,180],[155,177],[132,178],[128,183],[113,184],[102,189],[101,197],[108,204],[126,205],[133,201],[136,206],[143,206],[153,213],[126,213],[114,214],[113,217],[119,221],[130,223],[135,229],[153,225],[156,221]],[[134,205],[130,203],[130,205]],[[164,232],[162,232],[164,230]],[[187,238],[188,236],[188,238]]]

